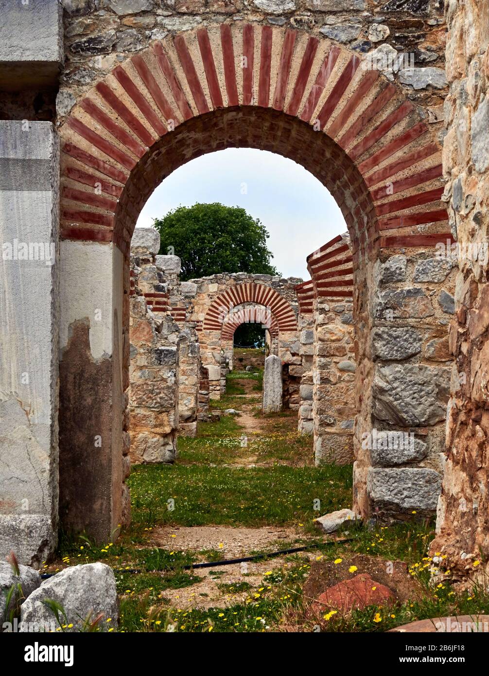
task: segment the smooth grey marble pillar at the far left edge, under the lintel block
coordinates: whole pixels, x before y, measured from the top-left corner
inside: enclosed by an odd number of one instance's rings
[[[1,121],[0,559],[29,565],[57,541],[58,182],[53,125]]]

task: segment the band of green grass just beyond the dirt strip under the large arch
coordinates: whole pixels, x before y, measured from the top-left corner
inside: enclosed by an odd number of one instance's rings
[[[351,466],[234,468],[139,465],[128,481],[133,528],[156,524],[286,525],[313,529],[314,500],[323,512],[349,506]],[[168,511],[167,500],[175,500]]]

